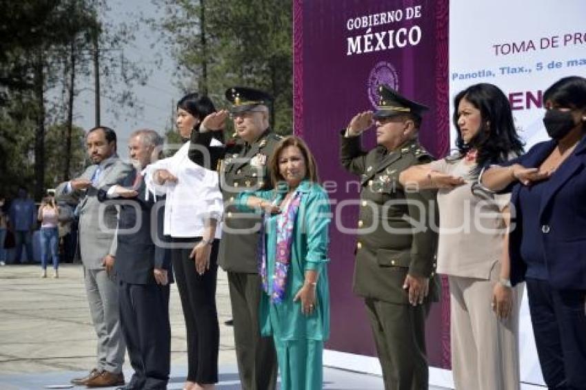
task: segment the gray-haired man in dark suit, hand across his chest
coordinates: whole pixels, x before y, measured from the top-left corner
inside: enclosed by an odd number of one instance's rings
[[[146,200],[141,171],[156,158],[163,139],[154,130],[137,130],[128,141],[132,172],[122,185],[98,197],[119,203],[117,252],[114,271],[119,285],[120,325],[126,341],[132,379],[120,389],[166,389],[170,372],[169,323],[170,258],[161,240],[163,209]],[[122,198],[119,202],[117,199]],[[110,200],[108,200],[110,199]],[[151,223],[156,213],[156,223]],[[160,228],[160,229],[159,229]]]

